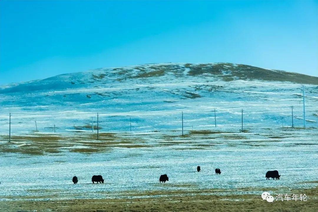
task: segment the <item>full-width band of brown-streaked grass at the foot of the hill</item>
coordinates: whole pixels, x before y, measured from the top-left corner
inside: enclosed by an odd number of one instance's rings
[[[272,131],[270,129],[264,129]],[[113,148],[154,148],[162,146],[174,146],[175,150],[207,149],[217,148],[217,145],[224,144],[238,146],[266,146],[269,143],[284,142],[286,145],[315,145],[312,142],[288,143],[288,139],[297,138],[297,132],[301,129],[285,132],[277,129],[274,133],[258,132],[230,132],[212,130],[190,130],[183,136],[179,132],[154,132],[151,134],[120,133],[63,133],[63,134],[41,134],[30,133],[27,135],[11,136],[11,143],[8,136],[0,136],[0,154],[21,153],[26,155],[45,155],[63,153],[65,151],[82,154],[97,152],[109,152]],[[312,129],[315,133],[315,128]],[[310,135],[311,131],[307,132]],[[256,140],[255,140],[256,139]],[[149,142],[151,141],[151,142]],[[239,143],[238,143],[239,142]],[[186,145],[186,147],[184,146]]]

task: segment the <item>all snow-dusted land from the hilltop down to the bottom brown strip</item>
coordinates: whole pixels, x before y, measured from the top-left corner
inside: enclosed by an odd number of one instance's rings
[[[0,199],[312,188],[318,177],[317,84],[316,77],[245,65],[168,63],[2,86]],[[292,129],[290,106],[294,125],[303,126],[302,85],[307,128]],[[96,141],[96,132],[90,132],[97,112],[100,132],[114,138]],[[7,142],[9,113],[13,144]],[[267,170],[279,170],[281,179],[266,180]],[[169,182],[160,184],[165,173]],[[92,185],[96,174],[106,183]],[[72,184],[74,175],[78,185]]]

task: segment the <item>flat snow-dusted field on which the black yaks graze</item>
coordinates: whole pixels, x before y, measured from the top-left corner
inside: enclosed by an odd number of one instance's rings
[[[2,152],[0,199],[139,197],[142,192],[167,190],[204,194],[211,189],[221,195],[317,186],[318,129],[193,132],[183,137],[175,136],[176,132],[121,132],[118,136],[145,147],[110,145],[91,154],[70,152],[68,147],[39,156]],[[75,142],[72,149],[89,148],[82,142]],[[221,169],[221,175],[215,175],[215,168]],[[280,180],[266,180],[268,170],[279,170]],[[105,183],[92,184],[91,177],[99,174]],[[159,183],[161,174],[167,174],[169,182]],[[75,175],[77,185],[72,183]]]

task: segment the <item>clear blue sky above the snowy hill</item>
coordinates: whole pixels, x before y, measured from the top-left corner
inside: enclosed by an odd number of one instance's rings
[[[317,1],[0,1],[0,84],[233,62],[318,76]]]

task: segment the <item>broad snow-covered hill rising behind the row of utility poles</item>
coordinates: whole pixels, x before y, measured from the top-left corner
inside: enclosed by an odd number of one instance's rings
[[[318,123],[318,78],[232,63],[145,64],[99,68],[0,87],[0,134],[90,130],[100,114],[101,131],[184,128],[302,126],[302,85],[308,127]]]

